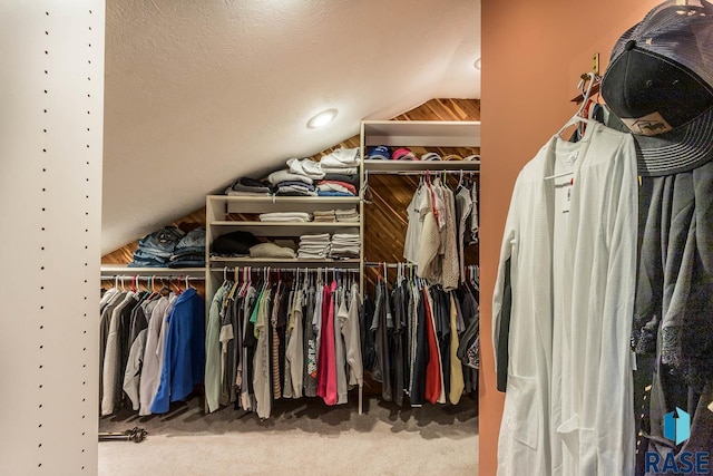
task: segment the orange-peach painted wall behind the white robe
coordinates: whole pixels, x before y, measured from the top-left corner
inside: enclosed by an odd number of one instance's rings
[[[491,300],[502,227],[518,172],[575,113],[569,100],[599,52],[658,1],[482,1],[480,475],[496,474],[505,394],[496,390]]]

